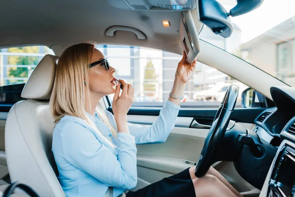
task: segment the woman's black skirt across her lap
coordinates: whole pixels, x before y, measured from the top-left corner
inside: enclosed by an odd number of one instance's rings
[[[196,197],[188,169],[135,192],[130,191],[126,197]]]

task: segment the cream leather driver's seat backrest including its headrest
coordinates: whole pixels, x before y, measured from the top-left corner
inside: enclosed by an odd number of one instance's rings
[[[23,181],[42,197],[65,197],[57,178],[49,109],[58,57],[46,55],[36,66],[10,109],[5,125],[5,151],[11,181]]]

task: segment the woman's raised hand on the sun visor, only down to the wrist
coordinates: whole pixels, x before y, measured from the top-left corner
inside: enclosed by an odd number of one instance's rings
[[[195,59],[191,64],[189,64],[186,60],[186,54],[184,51],[182,51],[182,54],[182,59],[178,63],[175,73],[175,79],[186,83],[195,73],[197,60]]]

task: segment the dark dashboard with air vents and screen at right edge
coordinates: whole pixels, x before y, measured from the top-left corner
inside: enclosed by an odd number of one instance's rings
[[[255,119],[254,132],[276,146],[260,197],[295,197],[295,88],[271,87],[276,107]]]

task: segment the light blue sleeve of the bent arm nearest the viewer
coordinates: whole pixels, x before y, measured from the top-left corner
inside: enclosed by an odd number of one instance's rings
[[[134,137],[118,133],[117,156],[89,129],[68,123],[60,133],[65,159],[107,186],[131,190],[137,184]]]

